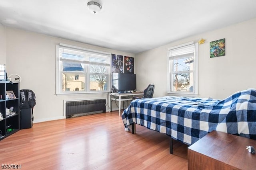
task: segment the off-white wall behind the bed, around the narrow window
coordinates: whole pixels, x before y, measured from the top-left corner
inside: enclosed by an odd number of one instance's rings
[[[166,96],[167,50],[190,41],[199,45],[199,97],[224,99],[234,92],[256,88],[256,19],[202,33],[136,54],[137,88],[155,84],[154,97]],[[226,56],[210,58],[210,42],[226,39]]]

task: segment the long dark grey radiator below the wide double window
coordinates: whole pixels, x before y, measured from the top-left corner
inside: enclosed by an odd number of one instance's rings
[[[106,99],[66,102],[66,118],[106,112]]]

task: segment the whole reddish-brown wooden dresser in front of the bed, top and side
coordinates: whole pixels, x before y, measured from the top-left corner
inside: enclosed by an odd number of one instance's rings
[[[188,170],[254,170],[256,141],[236,135],[212,131],[188,147]]]

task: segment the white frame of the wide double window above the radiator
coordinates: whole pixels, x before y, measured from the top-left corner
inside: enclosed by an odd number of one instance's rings
[[[83,71],[69,71],[68,73],[72,74],[78,74],[80,77],[80,74],[84,74],[85,82],[84,82],[84,90],[83,91],[62,91],[62,73],[65,73],[67,71],[64,71],[62,69],[62,61],[65,61],[64,59],[60,59],[59,55],[59,49],[71,49],[74,51],[79,51],[81,53],[86,53],[90,55],[99,55],[97,57],[102,57],[102,59],[106,59],[106,63],[97,63],[97,62],[90,62],[88,61],[81,61],[80,63],[83,64]],[[87,57],[87,56],[86,56]],[[85,58],[86,58],[85,57]],[[62,61],[61,61],[62,60]],[[56,45],[56,94],[92,94],[92,93],[106,93],[110,91],[110,68],[111,68],[111,53],[103,52],[103,51],[96,51],[92,49],[86,49],[83,47],[76,47],[73,45],[67,45],[60,43],[59,45]],[[76,61],[77,62],[77,61]],[[79,63],[79,62],[78,62]],[[95,74],[95,73],[90,73],[90,64],[94,65],[104,65],[106,66],[106,90],[90,90],[90,74]],[[100,73],[99,73],[100,74]]]

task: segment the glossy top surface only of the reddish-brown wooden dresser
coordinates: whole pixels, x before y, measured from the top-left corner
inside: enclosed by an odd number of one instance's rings
[[[256,149],[256,140],[212,131],[188,147],[200,154],[239,169],[256,169],[256,154],[251,154],[246,146]]]

